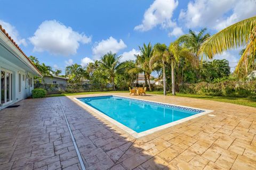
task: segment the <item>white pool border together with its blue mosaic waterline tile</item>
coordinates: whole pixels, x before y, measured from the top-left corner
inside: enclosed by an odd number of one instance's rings
[[[132,130],[131,128],[128,128],[127,126],[125,126],[124,124],[116,121],[114,118],[109,117],[107,114],[100,112],[98,109],[89,106],[88,104],[84,103],[83,101],[81,101],[81,99],[93,99],[93,98],[109,98],[109,97],[116,97],[116,98],[123,98],[125,100],[132,100],[132,101],[136,101],[136,102],[140,102],[140,103],[145,103],[145,104],[149,104],[149,105],[154,105],[154,106],[160,106],[160,107],[167,107],[167,108],[171,108],[171,109],[178,109],[179,111],[184,111],[184,112],[189,112],[193,115],[182,118],[178,121],[174,121],[174,122],[170,122],[170,123],[166,123],[163,125],[159,125],[155,128],[146,130],[146,131],[142,131],[142,132],[135,132],[134,130]],[[189,121],[193,118],[202,116],[204,114],[208,114],[211,113],[213,111],[208,110],[208,109],[199,109],[199,108],[194,108],[194,107],[187,107],[187,106],[179,106],[179,105],[172,105],[172,104],[166,104],[166,103],[160,103],[160,102],[156,102],[156,101],[149,101],[149,100],[143,100],[143,99],[134,99],[134,98],[130,98],[130,97],[123,97],[123,96],[118,96],[118,95],[100,95],[100,96],[93,96],[93,97],[77,97],[74,98],[76,101],[78,101],[79,103],[85,105],[87,108],[90,108],[92,111],[94,111],[95,113],[97,113],[98,115],[100,115],[101,117],[105,118],[106,120],[108,120],[109,122],[117,125],[119,128],[123,129],[124,131],[126,131],[127,133],[131,134],[133,137],[135,138],[140,138],[143,137],[145,135],[154,133],[156,131],[160,131],[166,128],[170,128],[171,126],[180,124],[182,122],[186,122]]]

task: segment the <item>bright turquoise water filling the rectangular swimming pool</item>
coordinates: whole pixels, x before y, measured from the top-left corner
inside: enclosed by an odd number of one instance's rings
[[[78,98],[135,132],[178,121],[204,111],[117,96]]]

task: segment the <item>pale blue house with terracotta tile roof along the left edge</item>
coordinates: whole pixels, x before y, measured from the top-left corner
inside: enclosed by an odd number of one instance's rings
[[[36,66],[0,25],[0,109],[31,95],[34,75],[42,77]]]

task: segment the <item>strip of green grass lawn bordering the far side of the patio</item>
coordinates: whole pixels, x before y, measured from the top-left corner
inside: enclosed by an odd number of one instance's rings
[[[90,94],[102,94],[102,93],[109,93],[109,92],[126,92],[126,91],[93,91],[93,92],[63,93],[63,94],[51,94],[51,95],[47,95],[46,97],[90,95]],[[152,91],[152,92],[148,91],[148,94],[162,95],[163,92],[161,92],[161,91]],[[170,93],[167,94],[167,95],[171,96]],[[256,99],[253,99],[253,98],[206,96],[206,95],[179,94],[179,93],[177,93],[177,96],[198,98],[198,99],[204,99],[204,100],[214,100],[214,101],[221,101],[221,102],[225,102],[225,103],[233,103],[233,104],[237,104],[237,105],[256,107]]]

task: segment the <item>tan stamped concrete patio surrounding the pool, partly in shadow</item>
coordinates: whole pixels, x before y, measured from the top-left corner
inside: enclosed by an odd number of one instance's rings
[[[256,169],[256,108],[183,97],[132,97],[211,109],[215,116],[135,139],[73,97],[26,99],[0,111],[0,169],[81,169],[60,103],[86,169]]]

